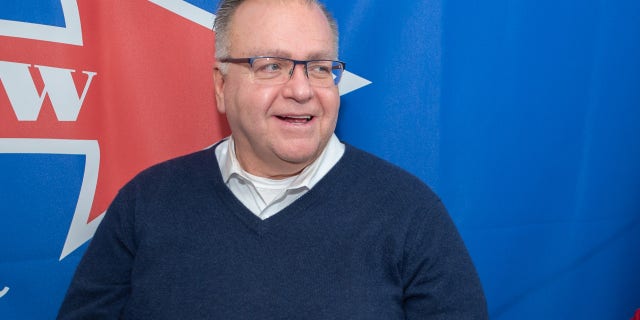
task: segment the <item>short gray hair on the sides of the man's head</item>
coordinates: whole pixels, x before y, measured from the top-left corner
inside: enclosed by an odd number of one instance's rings
[[[216,59],[227,58],[231,43],[229,42],[229,29],[232,22],[233,14],[238,7],[246,0],[222,0],[218,5],[216,19],[213,24],[213,30],[216,32]],[[282,0],[281,0],[282,1]],[[329,10],[317,0],[303,0],[309,5],[316,5],[324,13],[329,27],[334,37],[334,48],[337,57],[338,54],[338,23],[333,18]]]

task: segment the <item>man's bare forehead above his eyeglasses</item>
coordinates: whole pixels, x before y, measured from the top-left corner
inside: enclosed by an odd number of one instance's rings
[[[229,36],[233,55],[335,56],[327,18],[317,5],[306,1],[245,1],[234,13]]]

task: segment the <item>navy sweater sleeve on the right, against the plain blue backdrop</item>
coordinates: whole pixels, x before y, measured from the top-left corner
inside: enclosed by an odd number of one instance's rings
[[[480,279],[439,200],[415,215],[403,260],[406,319],[488,319]]]

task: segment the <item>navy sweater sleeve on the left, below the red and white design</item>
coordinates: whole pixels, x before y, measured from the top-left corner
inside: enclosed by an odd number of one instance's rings
[[[124,189],[123,189],[124,190]],[[117,319],[130,294],[135,203],[121,191],[96,230],[57,319]]]

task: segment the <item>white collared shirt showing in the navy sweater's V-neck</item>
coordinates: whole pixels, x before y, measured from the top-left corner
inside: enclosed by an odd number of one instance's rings
[[[340,160],[344,150],[344,144],[333,134],[318,159],[300,174],[278,180],[254,176],[243,170],[236,157],[232,136],[218,144],[216,158],[227,187],[242,204],[264,220],[311,190]]]

